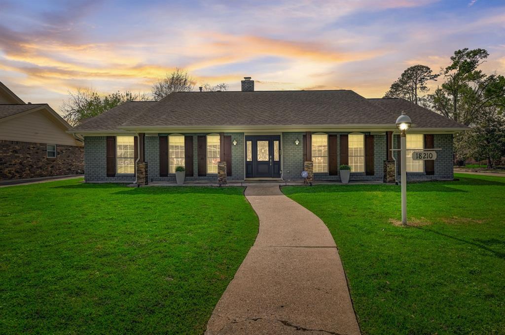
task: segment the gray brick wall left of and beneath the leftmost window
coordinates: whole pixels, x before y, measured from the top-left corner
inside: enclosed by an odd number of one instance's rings
[[[84,180],[86,182],[134,182],[135,176],[107,176],[107,137],[84,137]]]

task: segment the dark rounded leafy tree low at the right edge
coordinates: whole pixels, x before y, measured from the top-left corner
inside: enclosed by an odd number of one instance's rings
[[[505,117],[500,115],[498,107],[485,107],[476,117],[472,130],[459,137],[455,143],[458,157],[486,160],[490,169],[505,156]]]

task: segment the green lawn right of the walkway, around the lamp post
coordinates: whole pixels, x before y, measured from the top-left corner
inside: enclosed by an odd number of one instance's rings
[[[364,334],[505,333],[505,177],[288,186],[330,229]]]

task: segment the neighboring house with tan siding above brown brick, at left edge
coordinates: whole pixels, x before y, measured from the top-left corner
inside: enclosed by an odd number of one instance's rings
[[[0,180],[82,174],[82,140],[47,104],[25,104],[0,82]]]

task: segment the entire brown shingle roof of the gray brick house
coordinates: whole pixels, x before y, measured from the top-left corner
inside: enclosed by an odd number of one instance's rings
[[[159,102],[125,103],[72,131],[347,125],[394,128],[403,110],[412,114],[413,127],[464,127],[406,100],[384,99],[392,100],[385,104],[379,100],[383,99],[366,99],[350,90],[177,92]]]

